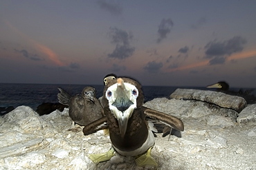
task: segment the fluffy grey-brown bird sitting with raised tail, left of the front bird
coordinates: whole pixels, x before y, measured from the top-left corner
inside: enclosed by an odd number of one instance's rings
[[[68,105],[68,114],[73,122],[86,126],[104,116],[102,105],[95,97],[95,89],[91,86],[84,87],[82,94],[71,96],[63,89],[58,88],[60,93],[57,98],[62,105]]]

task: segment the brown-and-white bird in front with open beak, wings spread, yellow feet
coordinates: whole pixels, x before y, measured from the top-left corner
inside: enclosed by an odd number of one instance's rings
[[[150,156],[154,146],[152,123],[145,120],[146,116],[160,120],[166,125],[179,131],[184,130],[183,122],[174,116],[143,107],[143,92],[140,84],[131,78],[118,78],[109,81],[104,87],[102,105],[106,117],[100,118],[84,127],[84,135],[98,130],[100,125],[107,121],[109,136],[113,149],[107,153],[92,154],[93,162],[103,162],[117,151],[122,156],[140,156],[136,158],[139,166],[151,164],[156,166],[154,158]]]

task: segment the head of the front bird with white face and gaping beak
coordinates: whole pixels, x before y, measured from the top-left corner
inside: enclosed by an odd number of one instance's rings
[[[107,107],[118,120],[121,136],[125,136],[127,123],[134,109],[143,105],[143,93],[138,82],[131,78],[118,78],[110,81],[104,88],[103,98]]]

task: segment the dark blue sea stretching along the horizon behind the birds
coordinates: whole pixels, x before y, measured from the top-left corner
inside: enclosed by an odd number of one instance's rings
[[[82,89],[89,85],[57,85],[57,84],[17,84],[0,83],[0,107],[26,105],[37,109],[42,103],[58,103],[57,87],[61,87],[72,96],[80,94]],[[90,85],[96,89],[97,98],[102,96],[103,85]],[[167,86],[143,86],[145,102],[154,98],[169,98],[170,94],[177,88],[205,89],[205,87],[167,87]],[[214,90],[214,89],[212,89]],[[236,88],[234,90],[239,90]],[[255,89],[253,89],[255,94]]]

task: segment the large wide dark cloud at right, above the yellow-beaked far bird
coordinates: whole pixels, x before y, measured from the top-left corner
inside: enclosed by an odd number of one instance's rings
[[[234,36],[232,39],[223,42],[210,41],[205,45],[205,58],[210,59],[209,64],[222,64],[226,61],[226,56],[244,50],[246,39],[241,36]]]

